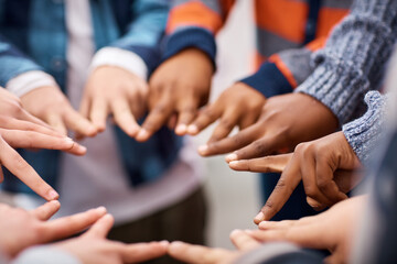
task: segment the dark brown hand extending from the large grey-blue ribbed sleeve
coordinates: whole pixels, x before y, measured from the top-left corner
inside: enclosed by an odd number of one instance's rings
[[[321,102],[303,94],[289,94],[268,99],[258,122],[251,127],[232,138],[201,146],[198,152],[211,156],[238,150],[226,156],[226,161],[248,160],[293,148],[336,129],[335,116]]]

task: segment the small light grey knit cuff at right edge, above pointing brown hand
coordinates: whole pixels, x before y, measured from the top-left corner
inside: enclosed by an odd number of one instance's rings
[[[378,91],[369,91],[365,96],[365,102],[368,106],[366,113],[342,128],[348,144],[362,163],[368,160],[385,132],[387,99]]]

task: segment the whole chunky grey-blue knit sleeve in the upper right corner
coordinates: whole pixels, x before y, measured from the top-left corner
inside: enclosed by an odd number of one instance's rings
[[[346,123],[369,87],[379,88],[396,38],[397,1],[356,0],[313,55],[316,68],[296,91],[316,98]]]

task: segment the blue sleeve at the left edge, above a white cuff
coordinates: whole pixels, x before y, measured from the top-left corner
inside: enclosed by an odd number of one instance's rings
[[[12,78],[31,70],[43,68],[0,35],[0,86],[7,87]]]

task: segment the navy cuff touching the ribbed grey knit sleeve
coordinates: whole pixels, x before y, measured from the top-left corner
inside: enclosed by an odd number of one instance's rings
[[[264,63],[254,75],[242,82],[261,92],[266,98],[292,92],[292,86],[273,63]]]

